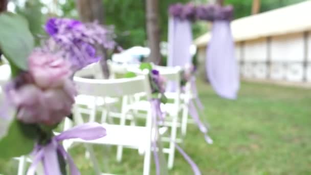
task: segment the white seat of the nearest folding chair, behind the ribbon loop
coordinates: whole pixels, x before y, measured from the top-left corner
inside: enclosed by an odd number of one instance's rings
[[[148,130],[143,126],[125,126],[114,124],[103,124],[106,129],[107,136],[85,141],[82,139],[71,139],[72,142],[92,143],[92,144],[106,144],[106,145],[122,145],[131,148],[139,149],[143,152],[147,144]]]

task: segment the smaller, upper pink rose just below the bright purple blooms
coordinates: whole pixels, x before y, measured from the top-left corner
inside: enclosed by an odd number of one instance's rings
[[[30,74],[43,89],[62,86],[72,73],[68,61],[50,53],[34,51],[28,61]]]

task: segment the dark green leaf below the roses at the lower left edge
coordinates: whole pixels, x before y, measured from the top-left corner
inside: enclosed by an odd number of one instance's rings
[[[0,159],[10,160],[29,154],[37,137],[37,128],[33,124],[12,121],[8,134],[0,140]]]

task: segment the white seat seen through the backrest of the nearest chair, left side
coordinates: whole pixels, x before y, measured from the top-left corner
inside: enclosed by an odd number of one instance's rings
[[[118,98],[111,97],[94,97],[89,95],[78,95],[76,97],[76,104],[86,105],[89,108],[93,108],[93,106],[103,106],[105,104],[114,104],[119,101]]]

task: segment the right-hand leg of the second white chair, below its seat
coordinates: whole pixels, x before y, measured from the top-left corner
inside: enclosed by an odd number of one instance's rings
[[[169,143],[169,154],[168,154],[168,168],[173,168],[174,157],[175,157],[175,139],[177,133],[177,115],[172,119],[171,137]]]

